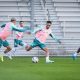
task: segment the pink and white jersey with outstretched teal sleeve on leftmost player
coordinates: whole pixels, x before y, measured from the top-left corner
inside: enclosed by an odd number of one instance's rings
[[[2,40],[6,40],[9,35],[12,34],[13,31],[24,32],[26,29],[24,28],[17,28],[12,22],[9,22],[5,25],[2,32],[0,32],[0,38]],[[22,35],[22,34],[21,34]]]

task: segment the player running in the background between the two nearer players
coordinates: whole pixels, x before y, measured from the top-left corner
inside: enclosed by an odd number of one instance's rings
[[[24,26],[24,21],[20,21],[19,22],[19,27],[25,27]],[[30,34],[30,28],[28,26],[26,26],[26,29],[27,29],[26,33]],[[26,46],[26,43],[24,43],[22,41],[23,34],[24,34],[24,32],[16,32],[16,38],[14,39],[14,47],[15,47],[15,49],[19,49],[19,47],[18,47],[19,45],[21,46],[20,48]]]

